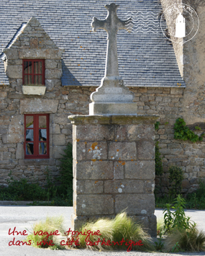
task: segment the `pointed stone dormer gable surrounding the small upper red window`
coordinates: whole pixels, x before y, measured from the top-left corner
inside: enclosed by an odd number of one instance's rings
[[[45,59],[45,86],[52,91],[55,84],[61,84],[62,63],[60,50],[40,22],[32,17],[22,32],[13,38],[9,48],[3,49],[6,55],[4,69],[12,87],[22,86],[22,59]],[[21,91],[18,88],[18,91]]]

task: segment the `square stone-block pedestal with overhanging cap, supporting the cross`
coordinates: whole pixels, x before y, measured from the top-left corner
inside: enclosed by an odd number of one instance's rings
[[[71,115],[72,229],[126,211],[156,236],[155,129],[158,116]]]

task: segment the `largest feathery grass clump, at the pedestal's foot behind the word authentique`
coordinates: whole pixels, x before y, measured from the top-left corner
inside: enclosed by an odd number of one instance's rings
[[[85,224],[81,229],[82,234],[86,231],[98,230],[100,235],[79,236],[81,248],[127,250],[128,252],[130,250],[154,250],[150,237],[139,224],[127,216],[127,213],[119,213],[114,219],[99,219],[96,222]]]

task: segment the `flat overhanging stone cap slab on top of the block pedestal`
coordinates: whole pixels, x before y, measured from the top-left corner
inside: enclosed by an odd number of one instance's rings
[[[68,115],[73,125],[147,125],[154,124],[159,115]]]

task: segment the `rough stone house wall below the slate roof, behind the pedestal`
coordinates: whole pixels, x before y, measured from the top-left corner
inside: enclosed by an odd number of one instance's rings
[[[45,181],[46,167],[52,175],[58,175],[60,154],[65,145],[72,141],[72,125],[68,115],[88,115],[89,95],[94,87],[54,87],[52,92],[44,96],[26,96],[14,88],[0,87],[0,184],[6,184],[9,170],[14,171],[15,177],[38,178]],[[204,141],[192,144],[173,138],[173,125],[176,119],[183,116],[183,88],[147,88],[129,87],[135,93],[137,112],[139,114],[160,115],[160,127],[155,132],[163,157],[163,193],[168,191],[168,167],[177,165],[185,172],[183,192],[192,192],[198,187],[199,178],[205,177]],[[47,110],[47,100],[50,110],[50,159],[24,159],[23,114],[20,113],[24,102],[38,100]],[[55,99],[55,100],[54,100]],[[23,102],[23,103],[22,103]],[[45,102],[45,103],[44,103]],[[35,104],[34,104],[35,105]],[[56,112],[54,112],[56,109]],[[52,112],[53,111],[53,112]],[[203,131],[200,131],[201,133]],[[159,182],[159,177],[156,183]]]

